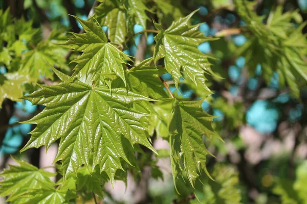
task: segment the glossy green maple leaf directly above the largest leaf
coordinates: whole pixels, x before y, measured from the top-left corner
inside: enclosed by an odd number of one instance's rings
[[[78,78],[84,81],[98,81],[101,84],[111,79],[109,75],[116,75],[126,85],[125,64],[130,58],[121,52],[113,44],[107,42],[107,37],[94,18],[82,20],[75,16],[80,22],[84,34],[72,33],[73,38],[65,43],[66,46],[75,51],[83,52],[77,59],[71,61],[78,63],[76,72]]]

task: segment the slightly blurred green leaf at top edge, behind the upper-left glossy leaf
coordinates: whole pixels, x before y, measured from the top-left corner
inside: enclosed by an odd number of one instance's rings
[[[114,43],[123,43],[126,31],[126,10],[119,0],[103,1],[95,7],[95,18],[101,25],[108,27],[108,39]]]

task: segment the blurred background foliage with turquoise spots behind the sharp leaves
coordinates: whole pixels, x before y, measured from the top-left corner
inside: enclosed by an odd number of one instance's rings
[[[199,45],[201,52],[214,58],[212,70],[220,76],[209,76],[212,95],[189,81],[177,90],[168,73],[162,78],[178,98],[206,97],[203,110],[215,116],[215,130],[225,142],[206,141],[216,156],[207,161],[215,181],[203,176],[195,185],[195,196],[183,181],[178,192],[174,189],[167,169],[169,152],[162,145],[143,203],[307,203],[307,1],[144,2],[152,9],[149,17],[165,25],[199,9],[192,23],[202,23],[200,31],[216,38]],[[242,2],[244,6],[239,5]],[[37,84],[57,83],[52,66],[72,71],[74,66],[67,62],[77,54],[67,55],[69,50],[57,43],[67,40],[66,31],[82,29],[68,14],[87,19],[97,5],[92,0],[0,1],[1,168],[9,154],[39,166],[39,149],[27,155],[18,151],[33,126],[16,122],[43,107],[18,98],[37,90]],[[140,24],[133,26],[134,33],[144,30]],[[108,27],[102,29],[108,32]],[[154,36],[145,38],[144,59],[152,56]],[[142,35],[135,36],[124,52],[137,57],[141,43]],[[161,103],[156,110],[161,118],[152,120],[158,137],[167,137],[168,109]],[[140,159],[145,166],[146,156]],[[106,194],[105,203],[135,203],[128,196],[114,196],[111,190]]]

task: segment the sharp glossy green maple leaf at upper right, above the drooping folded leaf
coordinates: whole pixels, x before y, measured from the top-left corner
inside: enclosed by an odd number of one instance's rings
[[[195,12],[174,21],[165,31],[160,24],[155,23],[160,33],[155,37],[157,43],[153,58],[156,62],[164,57],[165,68],[171,74],[177,88],[180,78],[187,77],[199,88],[211,92],[206,86],[205,73],[214,73],[211,71],[208,56],[198,49],[198,45],[213,39],[199,31],[200,24],[189,24]]]

